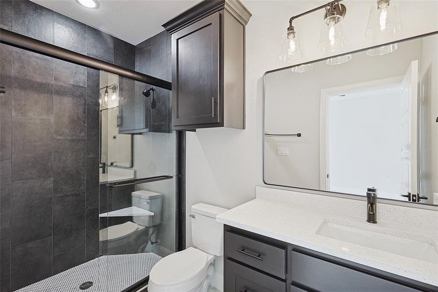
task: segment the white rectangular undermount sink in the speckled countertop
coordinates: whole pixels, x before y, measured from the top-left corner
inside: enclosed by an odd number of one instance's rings
[[[419,236],[413,234],[403,234],[402,237],[330,221],[324,221],[316,234],[438,264],[437,244],[432,238],[419,238]]]

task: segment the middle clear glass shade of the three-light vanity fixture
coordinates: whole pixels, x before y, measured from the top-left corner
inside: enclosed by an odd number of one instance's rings
[[[339,15],[325,18],[319,35],[318,49],[324,52],[333,52],[342,49],[346,44],[344,18]]]

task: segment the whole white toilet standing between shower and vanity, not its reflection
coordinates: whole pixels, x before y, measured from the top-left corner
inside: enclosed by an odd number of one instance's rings
[[[148,292],[207,292],[213,260],[224,254],[224,227],[216,215],[225,211],[204,203],[192,206],[194,247],[159,260],[149,274]]]

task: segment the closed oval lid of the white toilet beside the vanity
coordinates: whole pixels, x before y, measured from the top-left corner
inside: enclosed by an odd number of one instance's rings
[[[159,260],[152,268],[149,279],[158,286],[177,285],[202,272],[206,263],[206,253],[189,247]]]

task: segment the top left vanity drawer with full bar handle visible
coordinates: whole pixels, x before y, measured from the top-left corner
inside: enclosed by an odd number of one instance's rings
[[[225,232],[225,255],[282,279],[286,274],[286,250],[229,231]]]

